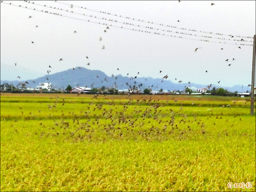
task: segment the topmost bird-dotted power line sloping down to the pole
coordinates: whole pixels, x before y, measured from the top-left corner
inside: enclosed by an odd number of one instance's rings
[[[62,3],[62,2],[58,2],[58,1],[54,1],[54,0],[51,0],[53,2],[56,2],[56,3],[60,3],[60,4],[66,4],[66,3]],[[70,4],[66,4],[66,5],[70,5]],[[78,7],[76,5],[73,5],[71,4],[70,6],[73,6],[73,7],[77,7],[77,8],[81,8],[83,9],[83,7]],[[103,14],[108,14],[108,15],[112,15],[112,16],[116,16],[116,17],[121,17],[121,18],[124,18],[124,19],[130,19],[130,20],[136,20],[136,21],[140,21],[140,22],[145,22],[145,23],[150,23],[150,24],[155,24],[155,25],[159,25],[159,26],[164,26],[164,27],[170,27],[170,28],[176,28],[176,29],[182,29],[182,30],[188,30],[188,31],[195,31],[195,32],[200,32],[200,33],[208,33],[208,34],[213,34],[212,32],[205,32],[205,31],[199,31],[199,30],[194,30],[194,29],[186,29],[186,28],[177,28],[175,26],[170,26],[170,25],[164,25],[164,24],[158,24],[158,23],[155,23],[155,22],[151,22],[151,21],[144,21],[144,20],[138,20],[138,19],[132,19],[130,17],[123,17],[123,16],[118,16],[116,14],[111,14],[111,13],[106,13],[104,11],[96,11],[96,10],[92,10],[92,9],[88,9],[88,8],[84,8],[84,9],[87,9],[87,10],[90,10],[90,11],[94,11],[94,12],[98,12],[98,13],[103,13]],[[223,35],[223,34],[220,34],[220,33],[215,33],[215,35],[222,35],[222,36],[229,36],[229,37],[232,37],[232,35]],[[233,37],[242,37],[242,38],[253,38],[253,37],[245,37],[245,36],[233,36]]]

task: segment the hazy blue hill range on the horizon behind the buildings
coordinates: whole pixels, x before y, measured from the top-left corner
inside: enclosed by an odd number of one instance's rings
[[[48,78],[49,80],[47,80]],[[33,81],[35,83],[33,83]],[[17,86],[19,82],[25,83],[25,81],[0,81],[0,84],[3,83],[9,83],[13,84],[14,86]],[[53,88],[58,89],[62,87],[65,89],[68,85],[71,87],[78,87],[78,86],[87,86],[89,88],[92,87],[115,87],[115,83],[117,86],[117,89],[129,89],[130,86],[139,86],[139,84],[142,84],[140,89],[144,90],[144,88],[150,87],[153,91],[158,91],[160,89],[163,90],[184,90],[185,86],[189,86],[188,83],[172,83],[172,81],[167,79],[154,79],[152,77],[137,77],[134,79],[134,77],[127,77],[122,75],[117,76],[107,76],[104,72],[100,70],[90,70],[83,67],[77,67],[75,70],[68,69],[66,71],[54,73],[45,75],[43,77],[39,77],[37,79],[29,79],[27,80],[29,84],[27,84],[27,87],[35,88],[40,83],[49,82],[52,84]],[[153,85],[153,86],[152,86]],[[208,85],[205,84],[194,84],[191,83],[190,87],[196,87],[196,88],[202,88],[207,87]],[[212,84],[212,87],[219,88],[221,86]],[[235,85],[233,87],[222,87],[224,89],[228,89],[230,92],[241,92],[241,86]],[[250,88],[244,87],[243,91],[250,90]]]

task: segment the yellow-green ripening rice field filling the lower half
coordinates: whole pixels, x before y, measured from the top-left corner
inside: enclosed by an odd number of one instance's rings
[[[250,98],[4,93],[0,101],[1,191],[256,189]]]

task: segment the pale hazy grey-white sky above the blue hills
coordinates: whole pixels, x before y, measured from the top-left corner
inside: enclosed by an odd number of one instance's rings
[[[79,66],[108,76],[168,75],[174,83],[248,85],[255,2],[3,1],[1,80],[35,79],[47,70],[53,74]]]

